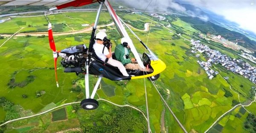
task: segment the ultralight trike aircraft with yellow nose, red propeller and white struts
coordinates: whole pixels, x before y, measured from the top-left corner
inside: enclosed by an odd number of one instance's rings
[[[62,57],[61,65],[65,68],[64,72],[74,72],[77,75],[79,73],[85,74],[85,95],[86,99],[81,101],[81,108],[86,110],[93,110],[98,108],[99,103],[97,100],[93,99],[96,91],[99,87],[102,77],[108,78],[110,80],[130,80],[130,79],[140,79],[147,77],[148,79],[154,81],[159,78],[160,73],[166,68],[165,63],[158,59],[158,57],[140,40],[140,38],[131,30],[131,28],[126,25],[122,19],[117,15],[113,7],[110,5],[108,0],[0,0],[0,5],[3,6],[23,6],[23,5],[36,5],[36,6],[55,6],[50,8],[49,11],[67,8],[70,6],[79,7],[92,3],[99,3],[99,9],[96,15],[96,20],[93,26],[93,31],[90,38],[89,48],[85,45],[77,45],[70,48],[66,48],[62,51],[57,51],[52,35],[52,25],[48,25],[48,34],[49,34],[49,45],[53,51],[54,66],[55,66],[55,79],[58,87],[57,79],[57,58]],[[95,53],[93,52],[93,44],[95,43],[95,32],[96,27],[99,22],[99,16],[102,11],[102,6],[105,4],[108,12],[110,13],[113,22],[115,23],[119,34],[122,37],[129,39],[128,44],[130,45],[131,51],[134,54],[135,59],[137,60],[140,67],[151,68],[153,72],[145,73],[139,70],[127,70],[128,74],[133,76],[123,76],[117,67],[114,67],[108,63],[100,60]],[[58,6],[56,6],[58,5]],[[140,43],[148,50],[147,53],[143,53],[143,56],[140,57],[136,48],[134,47],[133,42],[131,41],[127,31],[125,30],[124,25],[131,31],[132,34],[140,41]],[[110,42],[109,42],[110,43]],[[96,82],[96,85],[93,89],[93,92],[90,95],[89,91],[89,74],[99,76],[99,79]]]

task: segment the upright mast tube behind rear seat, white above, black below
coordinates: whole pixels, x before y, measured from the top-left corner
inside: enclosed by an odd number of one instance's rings
[[[89,53],[92,52],[93,50],[93,44],[94,44],[94,36],[95,36],[95,32],[96,32],[96,29],[97,29],[97,25],[99,23],[99,16],[100,16],[100,12],[102,10],[102,6],[103,6],[104,2],[101,2],[100,5],[99,5],[99,9],[98,9],[98,12],[97,12],[97,15],[96,15],[96,19],[95,19],[95,23],[93,25],[93,31],[92,31],[92,34],[91,34],[91,37],[90,37],[90,44],[89,44]]]

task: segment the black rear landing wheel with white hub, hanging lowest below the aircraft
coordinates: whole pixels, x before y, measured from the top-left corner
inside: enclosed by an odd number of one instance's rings
[[[80,103],[81,108],[85,110],[95,110],[99,106],[99,102],[95,99],[83,99]]]

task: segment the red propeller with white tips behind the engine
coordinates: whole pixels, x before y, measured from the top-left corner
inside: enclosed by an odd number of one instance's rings
[[[54,58],[54,70],[55,70],[56,85],[57,85],[57,87],[59,87],[58,77],[57,77],[57,58],[58,58],[58,54],[57,54],[56,46],[55,46],[55,43],[54,43],[54,40],[53,40],[52,24],[51,23],[48,24],[48,38],[49,38],[49,44],[50,44],[50,48],[52,49],[52,54],[53,54],[53,58]]]

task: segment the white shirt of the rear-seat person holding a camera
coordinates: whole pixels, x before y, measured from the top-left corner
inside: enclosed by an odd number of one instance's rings
[[[105,60],[107,59],[106,55],[109,54],[109,51],[108,51],[108,48],[105,47],[104,52],[102,54],[103,48],[104,48],[104,45],[99,44],[97,42],[95,42],[94,45],[93,45],[93,49],[95,51],[95,54],[99,57],[99,59],[101,59],[102,61],[105,62]]]

